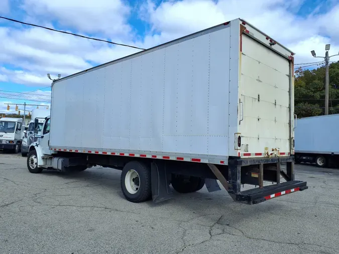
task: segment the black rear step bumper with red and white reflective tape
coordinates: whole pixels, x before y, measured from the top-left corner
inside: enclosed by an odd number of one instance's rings
[[[263,188],[254,188],[236,194],[235,201],[247,204],[259,204],[275,197],[306,190],[308,189],[306,184],[307,182],[303,181],[287,181],[280,184],[264,186]]]

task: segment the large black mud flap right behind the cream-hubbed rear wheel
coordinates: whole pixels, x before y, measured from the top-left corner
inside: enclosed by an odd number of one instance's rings
[[[152,162],[151,164],[152,198],[154,203],[158,203],[173,198],[173,191],[169,186],[171,183],[171,173],[166,171],[163,162]]]

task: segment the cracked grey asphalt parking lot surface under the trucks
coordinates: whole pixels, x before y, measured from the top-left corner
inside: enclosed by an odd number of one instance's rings
[[[309,189],[257,205],[205,187],[135,204],[120,171],[31,174],[0,152],[0,252],[339,253],[339,170],[295,168]]]

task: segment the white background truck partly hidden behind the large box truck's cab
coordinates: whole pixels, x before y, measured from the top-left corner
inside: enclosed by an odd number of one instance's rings
[[[28,148],[33,142],[38,140],[37,137],[34,135],[34,119],[38,119],[38,126],[37,126],[37,136],[41,135],[42,125],[45,122],[45,117],[50,115],[51,110],[46,108],[34,108],[32,109],[31,121],[28,124],[27,131],[24,131],[24,137],[22,139],[21,144],[21,155],[26,157],[28,154]]]

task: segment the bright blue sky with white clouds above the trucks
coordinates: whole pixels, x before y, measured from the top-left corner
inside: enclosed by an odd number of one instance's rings
[[[339,49],[337,0],[1,0],[0,15],[141,48],[240,17],[293,50],[296,63],[315,62],[310,50],[322,55],[327,43],[331,54]],[[0,38],[0,112],[4,103],[48,103],[47,73],[66,76],[138,51],[4,20]]]

